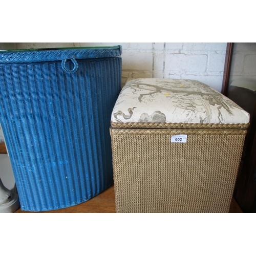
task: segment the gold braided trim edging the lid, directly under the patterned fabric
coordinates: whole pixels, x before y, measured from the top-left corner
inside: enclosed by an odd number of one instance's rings
[[[249,123],[116,123],[111,121],[113,128],[247,129],[249,125]]]

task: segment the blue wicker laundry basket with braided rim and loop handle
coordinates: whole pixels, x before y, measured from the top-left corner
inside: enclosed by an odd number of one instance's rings
[[[0,122],[22,210],[65,208],[113,184],[121,47],[0,51]]]

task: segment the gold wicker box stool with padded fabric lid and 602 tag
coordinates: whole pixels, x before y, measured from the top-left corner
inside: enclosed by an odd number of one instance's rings
[[[111,120],[116,212],[228,212],[248,125],[199,81],[126,83]]]

